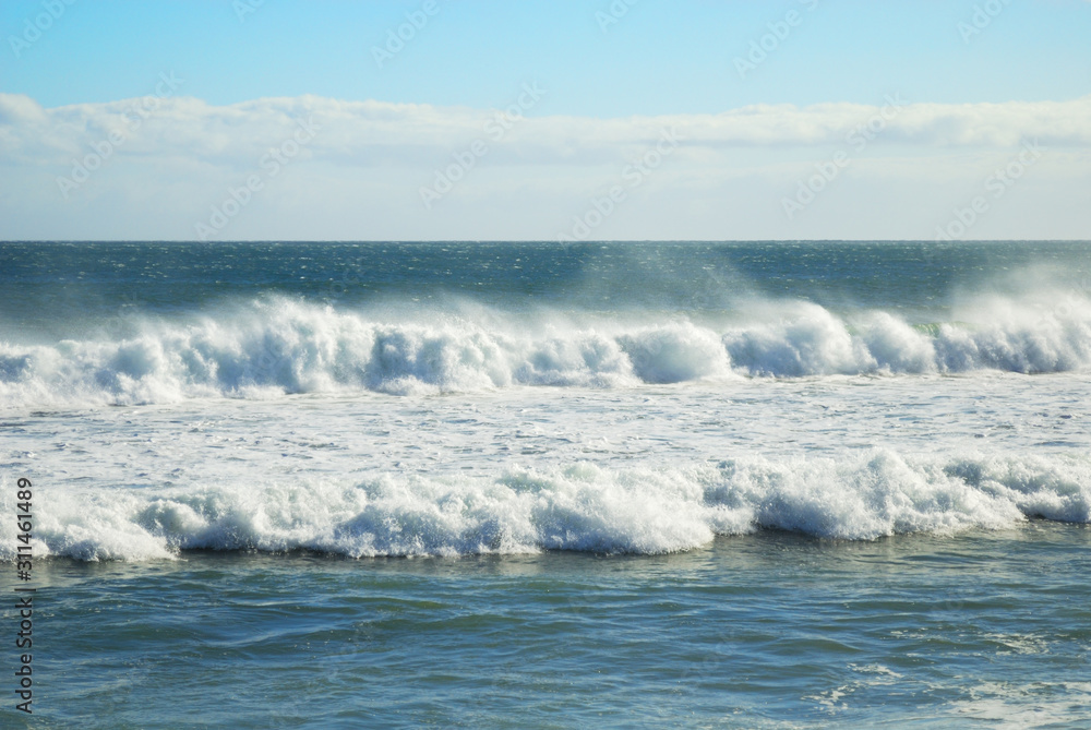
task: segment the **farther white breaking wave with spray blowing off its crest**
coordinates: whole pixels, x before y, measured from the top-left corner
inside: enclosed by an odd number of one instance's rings
[[[719,323],[478,310],[381,319],[264,299],[217,318],[127,323],[123,337],[0,342],[0,403],[149,404],[295,393],[410,395],[512,385],[612,387],[730,378],[1045,373],[1091,366],[1084,300],[979,302],[968,322],[912,325],[772,302]],[[740,320],[740,316],[745,319]]]

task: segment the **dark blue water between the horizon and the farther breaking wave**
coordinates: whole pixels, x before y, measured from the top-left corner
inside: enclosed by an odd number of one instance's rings
[[[1086,242],[0,243],[4,324],[63,332],[128,308],[209,310],[277,292],[358,307],[458,297],[523,309],[720,310],[746,297],[928,311],[963,290],[1091,276]],[[1084,287],[1087,288],[1087,287]]]

